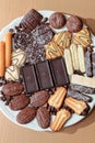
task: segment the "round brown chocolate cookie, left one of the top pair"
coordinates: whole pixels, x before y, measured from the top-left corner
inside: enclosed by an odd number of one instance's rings
[[[66,24],[66,18],[62,13],[52,13],[49,18],[49,23],[54,29],[61,29]]]

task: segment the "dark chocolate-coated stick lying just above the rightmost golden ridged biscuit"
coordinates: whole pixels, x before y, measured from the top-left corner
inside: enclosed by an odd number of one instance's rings
[[[92,101],[92,98],[90,96],[83,95],[79,91],[71,90],[71,89],[68,89],[67,97],[73,97],[75,99],[83,100],[83,101],[86,101],[86,102]]]

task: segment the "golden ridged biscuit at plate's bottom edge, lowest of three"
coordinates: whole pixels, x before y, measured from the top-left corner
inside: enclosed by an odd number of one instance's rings
[[[71,117],[71,113],[66,109],[60,109],[57,112],[57,116],[55,118],[55,121],[51,123],[50,129],[52,131],[59,131],[62,125],[66,123],[67,120]]]

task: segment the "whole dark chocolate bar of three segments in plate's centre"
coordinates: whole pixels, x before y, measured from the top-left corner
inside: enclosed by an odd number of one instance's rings
[[[51,89],[55,86],[67,86],[69,84],[62,57],[44,61],[36,65],[25,65],[22,67],[22,75],[27,94]]]

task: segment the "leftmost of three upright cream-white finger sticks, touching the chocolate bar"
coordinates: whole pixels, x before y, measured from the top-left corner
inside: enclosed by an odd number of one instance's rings
[[[71,52],[69,48],[64,50],[64,61],[66,61],[68,74],[72,75],[74,69],[73,69],[73,64],[72,64]]]

